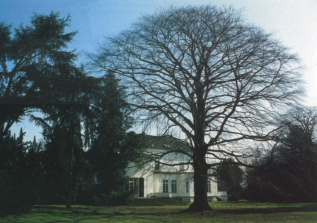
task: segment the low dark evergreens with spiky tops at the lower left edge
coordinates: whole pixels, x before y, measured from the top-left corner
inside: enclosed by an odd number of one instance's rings
[[[0,215],[29,211],[39,198],[40,145],[24,142],[24,134],[0,139]]]

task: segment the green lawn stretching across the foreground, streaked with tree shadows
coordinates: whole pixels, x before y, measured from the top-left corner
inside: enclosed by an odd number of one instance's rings
[[[31,213],[0,218],[2,222],[317,222],[317,203],[210,202],[212,213],[179,213],[188,206],[91,207],[35,206]]]

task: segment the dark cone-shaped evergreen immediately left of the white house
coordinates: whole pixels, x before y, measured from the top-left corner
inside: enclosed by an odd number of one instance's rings
[[[93,204],[123,204],[129,197],[125,168],[135,156],[138,135],[126,131],[131,127],[130,111],[124,90],[114,75],[104,79],[104,95],[95,102],[97,118],[87,157],[93,168],[95,184],[90,188]]]

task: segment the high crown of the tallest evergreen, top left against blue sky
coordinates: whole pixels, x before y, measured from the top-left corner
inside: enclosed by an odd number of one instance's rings
[[[29,25],[0,22],[0,135],[43,105],[68,103],[71,76],[81,73],[77,55],[68,51],[77,33],[65,32],[70,16],[34,14]]]

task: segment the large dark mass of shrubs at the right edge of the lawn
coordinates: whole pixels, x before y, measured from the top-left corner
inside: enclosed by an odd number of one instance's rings
[[[317,202],[315,108],[288,114],[284,129],[262,168],[249,169],[245,197],[256,201]]]

